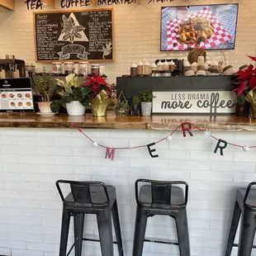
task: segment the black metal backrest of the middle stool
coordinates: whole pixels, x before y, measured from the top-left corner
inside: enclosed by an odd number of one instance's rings
[[[188,185],[182,181],[157,181],[150,179],[140,178],[135,182],[135,197],[137,203],[140,203],[139,200],[139,183],[149,183],[151,185],[151,207],[152,208],[163,208],[168,209],[170,207],[182,207],[187,205],[187,196],[188,196]],[[181,204],[172,204],[172,186],[173,185],[184,185],[185,189],[185,200]]]

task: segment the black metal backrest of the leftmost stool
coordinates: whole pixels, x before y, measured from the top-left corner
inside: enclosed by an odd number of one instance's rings
[[[60,183],[65,183],[70,185],[70,189],[73,196],[72,201],[68,201],[67,198],[64,198],[63,192],[59,186]],[[94,187],[101,186],[104,189],[104,192],[105,192],[104,196],[106,197],[106,201],[102,201],[100,203],[92,201],[90,186],[94,186]],[[74,206],[93,207],[94,205],[106,206],[109,204],[109,197],[108,197],[107,187],[105,183],[58,180],[56,182],[56,187],[59,191],[59,196],[61,197],[61,200],[64,202],[72,202]]]

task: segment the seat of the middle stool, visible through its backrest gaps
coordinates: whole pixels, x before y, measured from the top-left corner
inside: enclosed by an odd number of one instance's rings
[[[171,195],[172,197],[170,198],[170,205],[182,205],[185,203],[183,188],[172,187]],[[139,204],[141,206],[152,205],[152,190],[150,185],[144,185],[140,187]]]

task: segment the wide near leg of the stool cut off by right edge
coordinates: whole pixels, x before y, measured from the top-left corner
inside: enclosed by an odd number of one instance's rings
[[[250,256],[252,253],[256,230],[255,217],[255,212],[244,208],[240,225],[238,256]]]

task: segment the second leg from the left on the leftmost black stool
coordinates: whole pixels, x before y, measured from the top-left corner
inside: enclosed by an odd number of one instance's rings
[[[84,214],[79,213],[73,216],[74,251],[75,256],[82,255]]]

